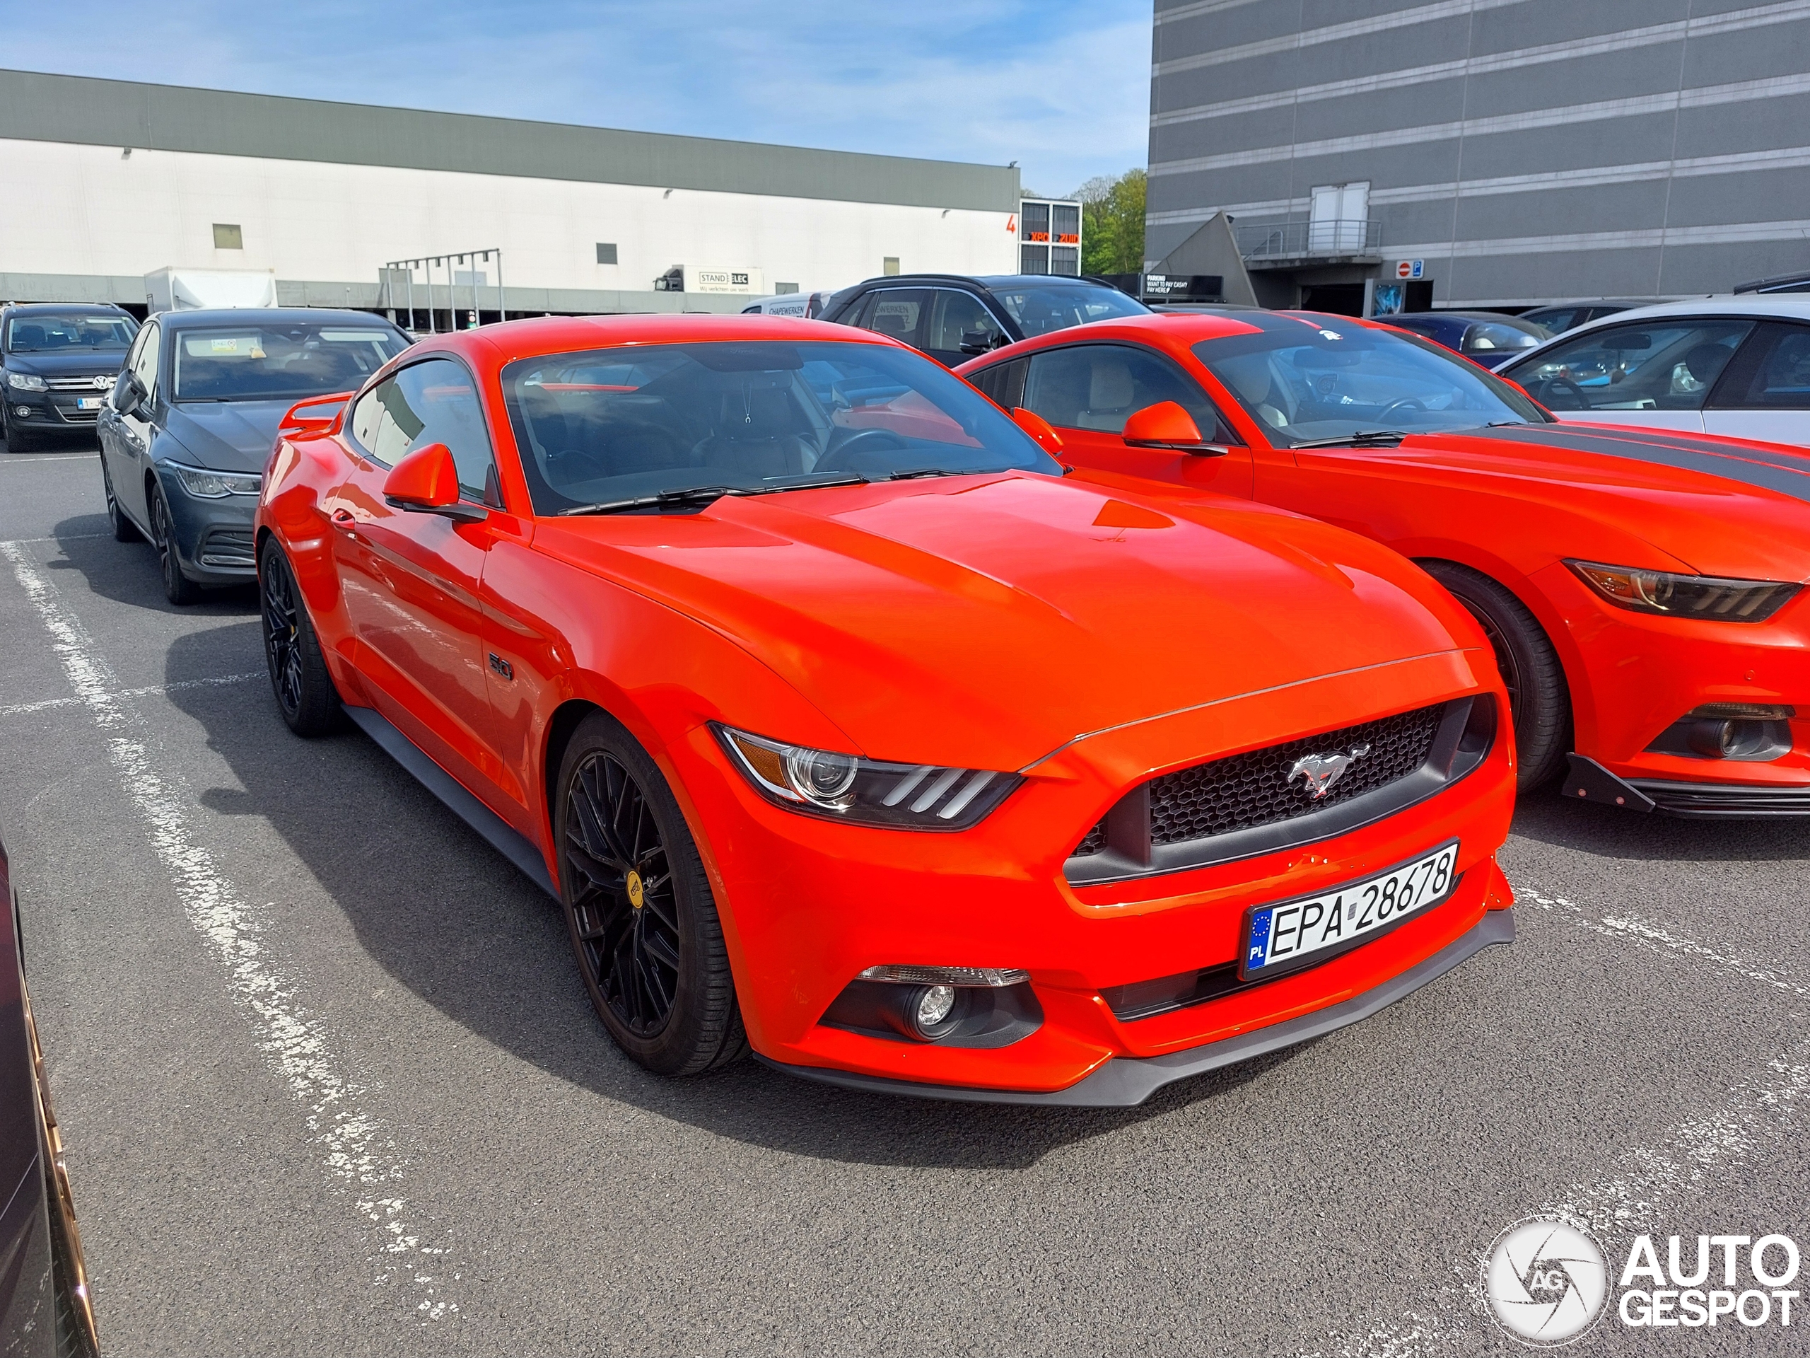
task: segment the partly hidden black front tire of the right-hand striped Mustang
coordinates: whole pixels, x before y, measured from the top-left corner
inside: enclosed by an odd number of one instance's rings
[[[1546,628],[1528,605],[1481,570],[1457,561],[1421,561],[1421,567],[1464,605],[1495,648],[1515,721],[1520,760],[1515,786],[1520,791],[1546,786],[1571,750],[1571,690]]]

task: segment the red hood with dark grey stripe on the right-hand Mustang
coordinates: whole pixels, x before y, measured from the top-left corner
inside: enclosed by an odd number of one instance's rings
[[[1589,520],[1580,558],[1620,550],[1622,534],[1705,576],[1810,578],[1810,454],[1801,447],[1558,422],[1415,435],[1356,458],[1388,464],[1394,474],[1484,476],[1504,502],[1533,500]]]

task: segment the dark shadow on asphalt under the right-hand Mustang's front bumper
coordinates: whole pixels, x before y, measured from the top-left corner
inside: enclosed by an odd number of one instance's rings
[[[1567,800],[1557,789],[1524,793],[1515,835],[1600,858],[1790,862],[1810,858],[1810,818],[1687,818]]]

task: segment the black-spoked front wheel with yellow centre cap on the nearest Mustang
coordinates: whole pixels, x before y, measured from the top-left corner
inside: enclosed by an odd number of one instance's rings
[[[559,900],[590,1003],[615,1045],[661,1076],[748,1052],[722,920],[666,779],[603,712],[559,760]]]

